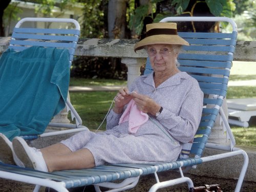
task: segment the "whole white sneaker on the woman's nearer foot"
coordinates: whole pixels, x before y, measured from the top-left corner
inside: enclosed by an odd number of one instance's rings
[[[48,172],[45,159],[42,157],[40,150],[30,147],[21,137],[15,137],[12,140],[12,145],[14,153],[16,154],[17,158],[23,162],[25,167],[41,170],[42,172]]]

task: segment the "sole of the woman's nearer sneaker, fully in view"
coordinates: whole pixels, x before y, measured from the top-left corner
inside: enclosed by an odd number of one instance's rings
[[[14,138],[12,144],[16,156],[23,162],[25,167],[35,169],[33,160],[28,156],[29,151],[26,149],[28,145],[27,142],[22,138]]]

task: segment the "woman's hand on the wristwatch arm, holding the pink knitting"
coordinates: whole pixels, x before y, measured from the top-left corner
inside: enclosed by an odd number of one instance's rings
[[[138,110],[152,115],[156,115],[156,113],[159,112],[161,105],[156,103],[152,98],[136,92],[133,92],[132,96]]]

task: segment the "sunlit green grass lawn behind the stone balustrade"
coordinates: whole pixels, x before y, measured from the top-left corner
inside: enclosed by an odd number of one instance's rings
[[[230,80],[251,80],[256,77],[256,63],[234,63],[230,73]],[[125,86],[124,80],[109,79],[76,79],[72,78],[71,86]],[[71,92],[71,102],[83,120],[83,125],[95,130],[108,113],[116,92]],[[229,87],[227,98],[256,98],[256,87]],[[248,128],[231,126],[238,145],[256,146],[256,119],[252,118]],[[105,129],[105,122],[100,130]]]

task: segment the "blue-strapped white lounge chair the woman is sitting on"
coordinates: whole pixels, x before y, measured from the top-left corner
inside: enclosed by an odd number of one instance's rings
[[[155,174],[156,176],[156,184],[151,187],[150,191],[156,191],[159,188],[184,182],[188,184],[188,188],[191,188],[194,186],[193,181],[188,177],[184,177],[184,169],[196,168],[196,165],[204,162],[243,155],[244,163],[235,190],[237,192],[240,191],[248,166],[248,156],[243,150],[234,147],[235,143],[232,132],[221,109],[223,98],[225,98],[227,92],[232,54],[236,45],[236,24],[226,17],[167,17],[161,20],[161,22],[179,22],[181,20],[226,21],[230,22],[233,26],[232,33],[179,33],[191,45],[184,48],[184,52],[179,55],[179,62],[181,64],[179,69],[195,77],[199,81],[205,95],[201,123],[194,138],[189,157],[188,153],[185,153],[187,155],[186,159],[180,158],[174,162],[108,164],[89,169],[62,170],[53,173],[44,173],[29,168],[0,164],[0,176],[6,179],[36,184],[36,191],[39,189],[39,185],[48,186],[58,191],[68,191],[66,188],[85,185],[94,185],[96,191],[100,191],[100,186],[111,188],[110,191],[122,191],[136,186],[139,177],[148,174]],[[145,73],[147,73],[147,70]],[[227,134],[231,141],[230,146],[207,143],[219,113],[226,124]],[[220,149],[224,153],[203,157],[205,147]],[[157,173],[167,170],[179,170],[181,177],[160,182]],[[115,181],[120,180],[122,182],[115,183]]]

